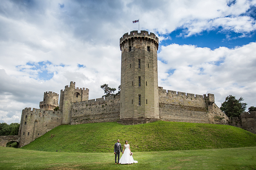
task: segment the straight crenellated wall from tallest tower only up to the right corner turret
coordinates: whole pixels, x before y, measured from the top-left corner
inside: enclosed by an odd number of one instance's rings
[[[164,121],[208,123],[203,95],[163,90],[158,87],[159,116]]]

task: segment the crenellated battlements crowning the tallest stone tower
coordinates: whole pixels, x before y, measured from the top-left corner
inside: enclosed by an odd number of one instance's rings
[[[135,38],[152,41],[157,46],[158,50],[158,37],[152,32],[148,34],[148,31],[140,31],[140,33],[138,33],[138,31],[131,31],[130,34],[128,34],[128,32],[125,33],[120,38],[120,50],[122,50],[122,46],[124,46],[126,41],[131,41]]]

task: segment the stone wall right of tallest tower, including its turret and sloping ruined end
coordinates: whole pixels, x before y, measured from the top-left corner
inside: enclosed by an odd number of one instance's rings
[[[158,87],[159,116],[172,122],[227,124],[227,116],[214,103],[214,95],[195,95]]]

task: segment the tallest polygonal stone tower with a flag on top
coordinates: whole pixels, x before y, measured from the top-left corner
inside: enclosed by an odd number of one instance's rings
[[[148,31],[131,31],[120,38],[121,124],[159,119],[157,50],[158,37]]]

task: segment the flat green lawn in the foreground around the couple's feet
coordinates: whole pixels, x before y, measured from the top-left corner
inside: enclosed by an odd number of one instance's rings
[[[1,170],[255,170],[256,147],[133,152],[131,165],[114,165],[113,153],[59,153],[0,147]]]

